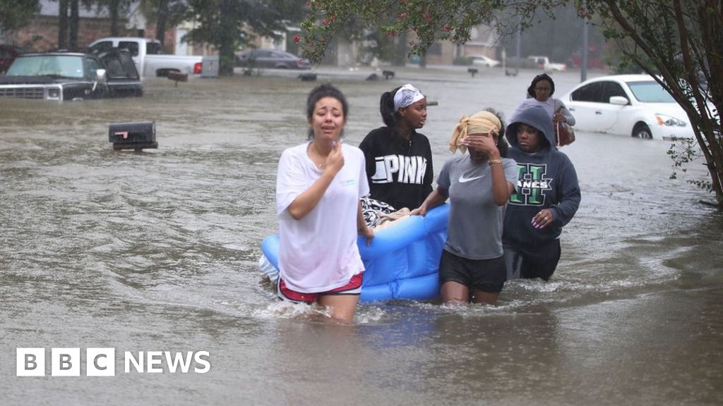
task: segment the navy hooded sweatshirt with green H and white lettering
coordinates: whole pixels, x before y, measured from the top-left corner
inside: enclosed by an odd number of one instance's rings
[[[544,134],[540,150],[524,152],[517,142],[517,128],[527,124]],[[519,111],[505,135],[510,143],[508,157],[517,162],[518,184],[505,212],[502,241],[526,249],[558,238],[580,205],[580,186],[573,163],[555,147],[555,134],[549,114],[539,105]],[[534,228],[532,217],[548,209],[552,224]]]

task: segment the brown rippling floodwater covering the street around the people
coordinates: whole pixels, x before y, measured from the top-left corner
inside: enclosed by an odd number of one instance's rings
[[[346,142],[380,126],[382,92],[428,100],[435,171],[462,114],[512,113],[534,74],[320,71],[348,97]],[[578,72],[555,74],[562,95]],[[499,306],[396,301],[353,325],[275,301],[260,241],[275,233],[281,151],[306,137],[315,83],[294,75],[145,81],[126,100],[0,100],[2,405],[721,405],[723,216],[669,180],[670,142],[578,134],[583,201],[549,282]],[[114,152],[108,124],[155,121],[158,150]],[[46,376],[16,376],[43,347]],[[51,376],[51,348],[80,376]],[[115,376],[86,376],[87,348]],[[207,373],[124,371],[124,353],[208,351]],[[193,366],[202,367],[199,363]]]

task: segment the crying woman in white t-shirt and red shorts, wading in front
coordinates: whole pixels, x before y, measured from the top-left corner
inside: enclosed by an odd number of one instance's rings
[[[309,142],[279,160],[278,296],[328,306],[334,319],[352,321],[364,272],[357,233],[369,241],[374,232],[359,204],[369,193],[364,154],[341,142],[347,113],[338,89],[315,87],[307,98]]]

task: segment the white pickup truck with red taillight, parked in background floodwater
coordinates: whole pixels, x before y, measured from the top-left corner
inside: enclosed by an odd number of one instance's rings
[[[138,73],[142,77],[168,76],[169,72],[200,74],[202,56],[163,55],[158,40],[136,37],[108,37],[93,41],[90,52],[98,53],[110,48],[125,48],[131,52]]]

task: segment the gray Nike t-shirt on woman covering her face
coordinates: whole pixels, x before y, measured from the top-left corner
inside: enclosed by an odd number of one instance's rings
[[[515,160],[503,158],[505,178],[517,185]],[[445,250],[467,259],[502,256],[502,220],[505,207],[492,197],[489,163],[475,162],[469,154],[451,157],[442,166],[437,185],[448,191],[450,216]]]

